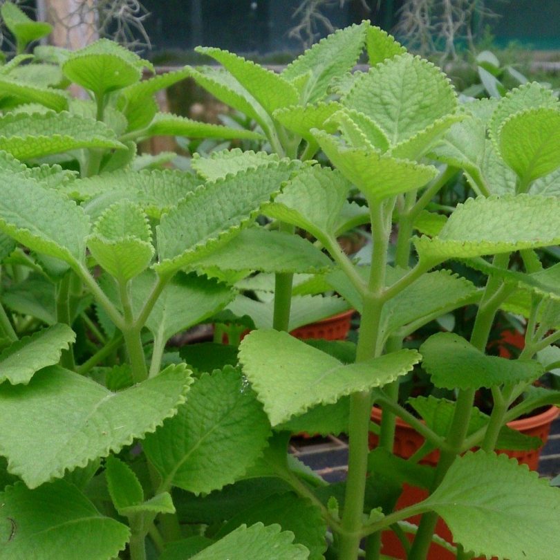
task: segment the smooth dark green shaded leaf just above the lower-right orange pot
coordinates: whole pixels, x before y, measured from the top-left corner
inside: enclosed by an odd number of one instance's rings
[[[431,335],[422,346],[422,366],[442,389],[478,389],[528,383],[543,375],[535,360],[507,360],[487,356],[453,333]]]

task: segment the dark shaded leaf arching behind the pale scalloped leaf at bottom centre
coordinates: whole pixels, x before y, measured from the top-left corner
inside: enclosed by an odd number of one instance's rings
[[[292,492],[270,496],[247,510],[242,510],[223,525],[216,533],[216,539],[229,534],[242,523],[250,526],[259,521],[265,525],[277,523],[282,530],[292,532],[295,535],[294,541],[309,550],[310,560],[324,559],[326,522],[321,511]]]

